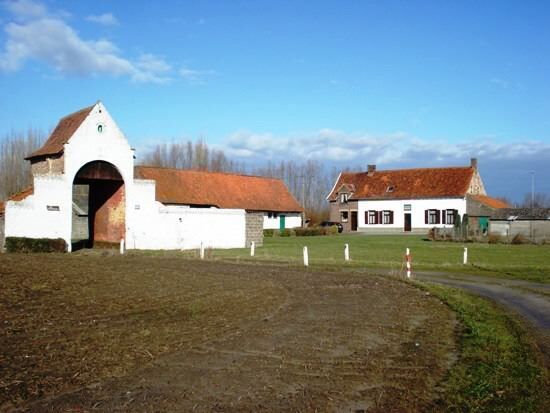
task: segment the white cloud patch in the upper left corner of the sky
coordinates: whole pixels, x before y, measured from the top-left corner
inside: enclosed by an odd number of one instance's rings
[[[0,71],[15,72],[34,60],[60,75],[124,76],[141,83],[172,80],[172,67],[163,58],[143,53],[131,60],[109,40],[83,39],[59,12],[50,13],[42,3],[19,0],[4,6],[13,21],[4,26],[7,39],[0,51]],[[113,21],[108,16],[114,19],[109,13],[95,17],[101,17],[104,23]]]

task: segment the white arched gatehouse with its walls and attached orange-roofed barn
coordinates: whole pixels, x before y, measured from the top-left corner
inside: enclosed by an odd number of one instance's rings
[[[101,102],[62,118],[26,159],[33,186],[6,202],[6,238],[236,248],[260,244],[265,226],[301,225],[302,208],[280,180],[134,166]]]

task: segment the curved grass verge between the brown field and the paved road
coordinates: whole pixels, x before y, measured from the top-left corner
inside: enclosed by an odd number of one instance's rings
[[[433,284],[421,287],[447,303],[463,326],[460,358],[431,411],[550,411],[548,372],[518,321],[464,291]]]

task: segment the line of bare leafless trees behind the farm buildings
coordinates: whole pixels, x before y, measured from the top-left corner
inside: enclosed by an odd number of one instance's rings
[[[0,139],[0,201],[5,201],[32,185],[30,163],[24,158],[38,149],[45,140],[39,130],[11,132]],[[223,150],[209,147],[203,140],[159,143],[146,151],[139,161],[142,165],[198,169],[213,172],[232,172],[265,176],[283,180],[290,192],[314,222],[328,217],[326,196],[340,170],[328,168],[319,160],[267,161],[246,164],[230,159]],[[513,205],[509,202],[510,205]],[[517,207],[550,208],[550,196],[544,193],[525,194]]]

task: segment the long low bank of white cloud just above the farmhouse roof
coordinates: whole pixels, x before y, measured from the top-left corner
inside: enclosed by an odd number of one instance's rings
[[[238,158],[318,159],[349,165],[460,165],[471,157],[509,161],[536,156],[550,160],[550,143],[542,141],[502,143],[484,139],[449,143],[428,141],[403,132],[371,135],[331,129],[292,136],[239,131],[226,139],[222,149]]]

